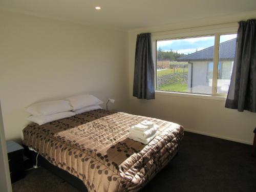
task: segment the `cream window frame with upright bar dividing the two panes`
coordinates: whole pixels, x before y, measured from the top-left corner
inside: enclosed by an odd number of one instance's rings
[[[214,44],[214,69],[212,74],[212,90],[211,94],[201,94],[201,93],[184,93],[184,92],[172,92],[172,91],[159,91],[156,90],[155,83],[155,93],[159,95],[171,95],[171,96],[183,96],[183,97],[195,97],[203,99],[217,99],[217,100],[226,100],[226,94],[217,93],[217,80],[218,80],[218,63],[219,63],[219,45],[220,45],[220,36],[227,34],[237,33],[238,25],[218,25],[218,26],[208,26],[200,28],[191,28],[175,31],[166,31],[166,32],[156,32],[151,34],[152,40],[152,56],[154,61],[155,68],[155,82],[157,80],[156,73],[156,64],[157,64],[157,49],[156,42],[157,40],[166,40],[166,39],[181,39],[181,38],[191,38],[191,37],[201,37],[201,36],[215,36]]]

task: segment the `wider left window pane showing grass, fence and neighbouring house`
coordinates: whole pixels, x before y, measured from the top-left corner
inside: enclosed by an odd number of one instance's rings
[[[157,41],[157,90],[211,94],[215,36]]]

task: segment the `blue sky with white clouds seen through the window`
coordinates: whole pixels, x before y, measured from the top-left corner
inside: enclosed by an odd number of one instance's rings
[[[236,38],[237,34],[221,35],[220,42],[224,42],[233,38]],[[174,39],[174,40],[159,40],[157,41],[157,49],[161,47],[164,51],[177,51],[178,53],[190,54],[200,51],[207,47],[214,46],[215,36],[205,37],[192,37],[185,39]]]

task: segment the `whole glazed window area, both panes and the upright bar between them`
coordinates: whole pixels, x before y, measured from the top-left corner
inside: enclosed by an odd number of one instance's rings
[[[227,34],[157,40],[156,90],[227,94],[236,37]]]

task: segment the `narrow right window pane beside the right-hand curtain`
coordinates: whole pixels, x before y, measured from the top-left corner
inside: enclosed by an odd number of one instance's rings
[[[237,34],[220,36],[217,93],[227,94],[228,92],[236,51],[236,40]]]

